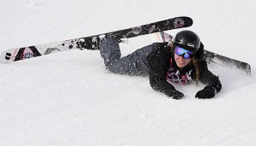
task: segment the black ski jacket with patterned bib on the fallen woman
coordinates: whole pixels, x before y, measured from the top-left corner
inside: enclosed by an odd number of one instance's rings
[[[204,45],[201,44],[201,52],[204,51]],[[155,49],[147,56],[149,67],[149,83],[155,91],[160,91],[169,95],[174,90],[172,84],[186,85],[195,80],[195,67],[188,65],[183,68],[177,67],[174,57],[172,57],[171,48],[167,43],[155,45]],[[198,62],[200,66],[200,76],[198,81],[204,85],[210,85],[216,92],[221,91],[222,84],[219,78],[208,70],[204,59]]]

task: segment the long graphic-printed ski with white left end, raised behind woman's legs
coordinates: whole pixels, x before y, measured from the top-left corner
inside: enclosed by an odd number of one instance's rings
[[[85,38],[75,38],[50,44],[38,44],[27,47],[15,48],[4,51],[0,55],[1,63],[9,63],[12,61],[20,61],[28,58],[37,57],[40,55],[48,55],[59,51],[65,50],[97,50],[99,36],[113,36],[120,38],[132,38],[141,35],[146,35],[153,32],[168,31],[171,29],[178,29],[183,27],[192,26],[192,19],[186,16],[174,17],[168,20],[161,20],[154,23],[149,23],[142,26],[131,27],[116,32],[101,33],[94,36]]]

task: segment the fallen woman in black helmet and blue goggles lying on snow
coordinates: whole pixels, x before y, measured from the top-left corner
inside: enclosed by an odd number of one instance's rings
[[[203,90],[195,97],[211,98],[221,91],[219,78],[208,70],[204,60],[204,45],[195,32],[178,32],[169,43],[155,43],[121,58],[119,42],[103,38],[101,57],[107,70],[113,73],[148,76],[155,91],[180,99],[184,96],[174,84],[187,85],[202,82]]]

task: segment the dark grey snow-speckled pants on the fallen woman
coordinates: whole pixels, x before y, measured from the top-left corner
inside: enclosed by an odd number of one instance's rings
[[[100,44],[101,57],[105,67],[112,73],[147,76],[146,57],[154,49],[154,44],[134,51],[121,58],[119,42],[114,38],[103,38]]]

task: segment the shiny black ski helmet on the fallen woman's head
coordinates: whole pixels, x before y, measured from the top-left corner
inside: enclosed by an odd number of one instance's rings
[[[200,38],[198,35],[187,30],[178,32],[173,38],[173,43],[192,51],[198,51],[200,48]]]

